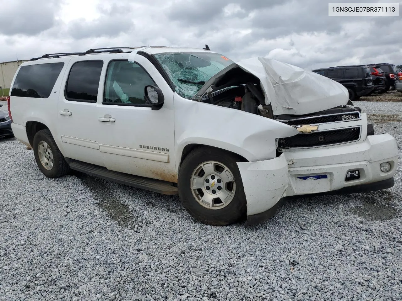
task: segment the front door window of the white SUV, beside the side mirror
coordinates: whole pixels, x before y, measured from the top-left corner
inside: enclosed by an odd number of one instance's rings
[[[137,63],[111,61],[107,68],[103,104],[148,105],[146,85],[155,85],[150,75]]]

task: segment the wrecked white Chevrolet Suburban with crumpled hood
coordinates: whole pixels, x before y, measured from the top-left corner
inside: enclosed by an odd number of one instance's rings
[[[343,85],[273,59],[128,47],[23,63],[12,130],[46,177],[70,169],[178,194],[197,220],[257,224],[289,197],[394,185],[398,148]]]

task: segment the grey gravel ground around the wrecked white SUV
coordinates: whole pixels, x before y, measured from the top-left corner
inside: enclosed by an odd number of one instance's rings
[[[358,104],[401,145],[402,103]],[[176,196],[47,179],[17,140],[0,149],[0,300],[401,299],[400,165],[385,191],[298,199],[258,226],[211,227]]]

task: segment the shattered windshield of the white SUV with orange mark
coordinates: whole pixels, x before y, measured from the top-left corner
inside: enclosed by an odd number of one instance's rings
[[[234,63],[219,53],[158,53],[156,59],[168,74],[180,96],[191,99],[216,73]]]

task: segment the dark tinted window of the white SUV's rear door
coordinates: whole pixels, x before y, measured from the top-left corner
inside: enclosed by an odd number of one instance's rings
[[[77,102],[96,102],[103,61],[74,63],[68,75],[66,99]]]

